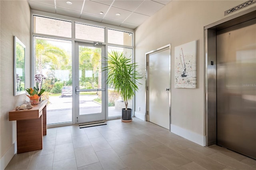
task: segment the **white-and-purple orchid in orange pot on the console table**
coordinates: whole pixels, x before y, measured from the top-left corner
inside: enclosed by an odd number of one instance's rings
[[[36,74],[34,78],[35,78],[36,86],[34,88],[26,88],[26,91],[30,96],[34,96],[34,95],[41,96],[45,91],[44,89],[42,89],[42,84],[43,84],[43,80],[45,80],[46,77],[43,74]]]

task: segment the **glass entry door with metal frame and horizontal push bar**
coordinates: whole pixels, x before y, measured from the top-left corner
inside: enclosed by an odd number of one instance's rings
[[[106,119],[104,46],[75,43],[74,87],[76,122]]]

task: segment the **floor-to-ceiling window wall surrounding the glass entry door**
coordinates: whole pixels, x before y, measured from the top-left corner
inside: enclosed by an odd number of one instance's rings
[[[33,12],[32,18],[33,74],[46,76],[43,98],[49,100],[47,124],[74,123],[74,100],[70,88],[72,89],[75,42],[98,42],[99,45],[106,46],[106,55],[117,50],[133,58],[133,30],[49,13]],[[121,116],[121,110],[117,111],[117,106],[122,107],[122,98],[111,87],[107,91],[106,115],[112,118]],[[129,107],[132,107],[132,101]]]

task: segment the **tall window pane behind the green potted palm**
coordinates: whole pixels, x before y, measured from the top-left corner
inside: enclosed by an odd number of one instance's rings
[[[111,54],[112,51],[124,52],[127,58],[132,58],[131,48],[108,46],[108,52]],[[121,96],[108,86],[108,117],[122,116],[122,108],[125,108],[125,104]],[[132,100],[128,101],[128,108],[132,108]]]

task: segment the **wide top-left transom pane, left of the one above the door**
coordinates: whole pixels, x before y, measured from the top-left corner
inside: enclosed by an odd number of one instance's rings
[[[34,16],[33,32],[38,34],[48,34],[53,36],[62,36],[71,38],[71,22]]]

